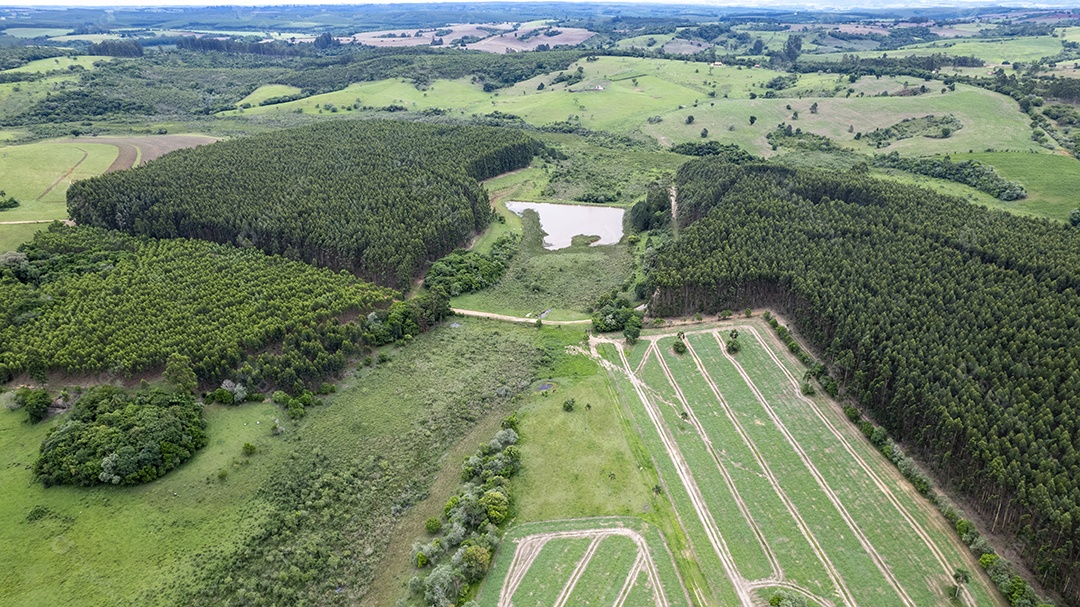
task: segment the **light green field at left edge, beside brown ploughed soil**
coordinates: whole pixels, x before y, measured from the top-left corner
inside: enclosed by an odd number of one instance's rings
[[[66,218],[68,187],[105,173],[117,153],[116,146],[83,143],[0,148],[0,190],[19,202],[0,212],[0,221]]]

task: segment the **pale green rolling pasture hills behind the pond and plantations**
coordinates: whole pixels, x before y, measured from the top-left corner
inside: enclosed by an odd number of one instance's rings
[[[855,133],[868,133],[906,118],[954,114],[963,127],[951,137],[905,139],[889,149],[910,154],[987,148],[1045,151],[1031,141],[1028,119],[1014,100],[972,86],[958,85],[955,92],[942,94],[937,90],[940,84],[932,82],[928,84],[931,91],[927,94],[899,96],[903,89],[918,87],[921,82],[866,77],[849,83],[836,75],[808,73],[801,75],[795,85],[781,91],[779,98],[765,98],[765,85],[780,72],[634,57],[582,60],[567,71],[576,71],[579,67],[583,70],[583,80],[571,85],[553,83],[555,75],[551,73],[492,93],[485,93],[465,80],[435,81],[426,90],[403,80],[383,80],[243,111],[245,114],[333,113],[326,104],[332,104],[337,113],[351,111],[345,108],[356,104],[400,105],[413,110],[440,107],[462,116],[498,110],[519,116],[531,124],[570,120],[588,129],[646,135],[663,145],[701,140],[705,129],[708,139],[738,144],[764,154],[771,153],[766,134],[781,122],[791,122],[805,131],[869,152],[873,150],[866,144],[854,141]],[[542,90],[539,89],[541,84],[544,85]],[[849,87],[853,90],[850,97],[846,96]],[[889,96],[880,96],[881,93]],[[751,99],[752,94],[757,98]],[[815,102],[819,111],[811,113],[810,106]],[[799,113],[797,121],[794,120],[796,111]],[[692,123],[688,122],[691,116]],[[986,116],[996,118],[987,121]],[[753,125],[751,117],[756,119]]]

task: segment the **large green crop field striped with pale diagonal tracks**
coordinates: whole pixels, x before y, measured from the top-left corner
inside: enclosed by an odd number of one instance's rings
[[[700,524],[687,525],[693,551],[721,564],[703,567],[710,588],[729,584],[730,604],[747,606],[771,589],[818,605],[955,604],[954,568],[980,569],[944,518],[833,401],[800,393],[805,370],[767,325],[719,326],[688,331],[685,354],[672,334],[643,336],[633,364],[621,342],[592,339],[650,450],[661,439],[652,455],[674,467],[658,466],[679,520]],[[984,576],[960,596],[998,601]]]

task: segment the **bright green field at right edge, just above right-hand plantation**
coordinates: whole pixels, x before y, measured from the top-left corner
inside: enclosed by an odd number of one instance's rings
[[[1059,154],[976,152],[957,154],[954,160],[974,159],[993,166],[1005,179],[1018,181],[1027,198],[1011,202],[993,200],[988,206],[1021,215],[1066,220],[1080,208],[1080,161]]]

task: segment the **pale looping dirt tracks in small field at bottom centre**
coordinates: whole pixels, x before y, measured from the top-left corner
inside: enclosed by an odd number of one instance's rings
[[[503,581],[502,588],[499,591],[499,607],[513,607],[512,599],[514,594],[517,592],[517,589],[521,586],[522,580],[525,579],[525,575],[528,572],[529,568],[532,567],[532,563],[536,562],[537,556],[540,554],[540,550],[549,541],[557,539],[592,538],[592,543],[589,544],[589,549],[585,551],[585,554],[581,557],[581,559],[578,561],[573,571],[570,574],[570,579],[567,580],[566,585],[563,586],[563,591],[559,592],[558,597],[555,599],[555,607],[565,607],[570,598],[570,595],[573,593],[573,589],[578,585],[578,581],[585,572],[585,568],[596,554],[596,550],[599,548],[600,542],[609,536],[623,536],[630,538],[637,545],[637,558],[634,559],[634,564],[631,566],[630,572],[626,575],[626,581],[623,583],[622,590],[619,592],[619,596],[616,599],[616,606],[618,607],[619,605],[625,603],[626,596],[630,595],[630,590],[634,586],[634,582],[640,575],[642,569],[645,569],[646,575],[649,578],[649,582],[652,583],[652,594],[656,599],[657,607],[670,607],[667,596],[664,595],[664,589],[660,583],[660,571],[657,569],[656,561],[652,559],[652,554],[649,552],[648,542],[646,542],[645,538],[637,531],[626,528],[551,531],[546,534],[535,534],[522,539],[517,542],[517,548],[514,549],[514,556],[510,562],[510,570],[507,571],[507,579]]]

